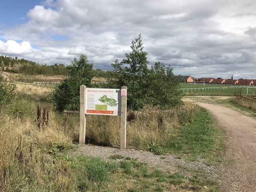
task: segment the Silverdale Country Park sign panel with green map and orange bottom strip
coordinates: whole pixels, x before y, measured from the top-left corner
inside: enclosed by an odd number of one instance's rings
[[[85,113],[94,115],[121,115],[121,89],[85,89]]]

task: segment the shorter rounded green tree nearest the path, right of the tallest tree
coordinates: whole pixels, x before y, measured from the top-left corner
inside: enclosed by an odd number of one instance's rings
[[[167,109],[181,104],[179,80],[172,73],[170,66],[155,62],[154,67],[151,67],[148,82],[148,100],[152,105]]]

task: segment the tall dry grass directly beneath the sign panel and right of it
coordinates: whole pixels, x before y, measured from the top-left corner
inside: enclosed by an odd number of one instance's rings
[[[128,148],[145,149],[154,141],[164,145],[170,136],[198,114],[198,106],[185,102],[180,108],[160,110],[146,106],[140,112],[129,111],[127,114]],[[78,118],[78,117],[77,117]],[[78,119],[77,119],[78,120]],[[86,142],[105,146],[120,145],[120,117],[97,116],[86,117]]]

